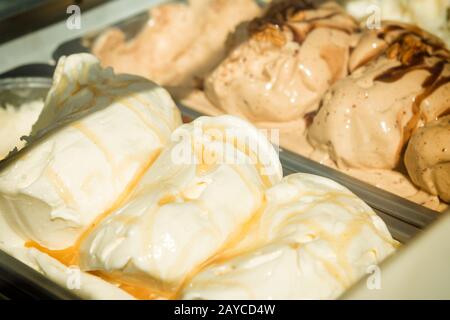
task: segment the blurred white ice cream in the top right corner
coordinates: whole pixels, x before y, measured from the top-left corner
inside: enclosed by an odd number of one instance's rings
[[[415,24],[441,37],[450,48],[449,0],[339,0],[338,2],[356,18],[369,18],[368,23],[395,20]]]

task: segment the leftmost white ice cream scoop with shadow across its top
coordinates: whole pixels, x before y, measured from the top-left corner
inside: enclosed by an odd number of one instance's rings
[[[120,203],[181,117],[169,94],[89,54],[60,59],[27,146],[0,171],[0,210],[25,239],[72,246]]]

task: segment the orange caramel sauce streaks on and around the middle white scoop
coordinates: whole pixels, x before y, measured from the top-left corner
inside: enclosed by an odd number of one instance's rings
[[[209,129],[208,127],[205,127],[204,130]],[[257,154],[252,151],[245,143],[240,143],[236,137],[233,137],[233,139],[225,139],[225,129],[224,128],[214,128],[219,129],[222,135],[220,137],[212,137],[213,140],[220,140],[222,138],[223,143],[230,143],[233,145],[233,147],[236,150],[239,150],[240,152],[246,154],[249,158],[256,160],[255,168],[260,173],[261,177],[261,183],[265,185],[266,187],[269,187],[272,185],[272,182],[270,181],[270,178],[266,176],[263,173],[264,164],[260,161]],[[194,148],[194,145],[192,146]],[[199,174],[206,173],[209,171],[212,167],[211,165],[205,164],[205,156],[206,156],[206,150],[204,146],[201,144],[200,149],[197,149],[197,151],[200,153],[198,156],[200,163],[197,165],[197,170]],[[194,149],[196,150],[196,149]],[[148,170],[148,168],[152,165],[152,163],[157,158],[157,155],[160,151],[155,153],[150,157],[149,162],[139,171],[138,174],[136,174],[133,181],[127,186],[126,190],[123,192],[123,194],[119,197],[119,199],[111,206],[110,209],[99,215],[94,222],[82,233],[82,235],[77,239],[75,244],[69,248],[63,249],[63,250],[51,250],[44,246],[41,246],[35,241],[27,241],[25,244],[25,247],[27,248],[35,248],[43,253],[48,254],[49,256],[53,257],[54,259],[60,261],[62,264],[66,266],[79,266],[80,265],[80,248],[82,246],[82,243],[87,239],[87,237],[92,233],[92,231],[103,221],[105,220],[112,212],[120,208],[126,201],[128,201],[131,197],[132,191],[135,189],[137,184],[140,181],[140,178],[145,174],[145,172]],[[253,190],[251,183],[247,181],[243,173],[239,171],[239,168],[237,166],[234,166],[234,170],[241,176],[241,178],[244,180],[244,182],[247,183],[249,189],[251,192],[255,192]],[[160,199],[159,204],[163,205],[169,202],[172,202],[175,199],[175,196],[173,195],[166,195],[163,198]],[[265,203],[265,201],[263,201]],[[137,299],[142,300],[156,300],[156,299],[176,299],[180,294],[182,289],[189,283],[189,281],[201,270],[203,270],[205,267],[209,266],[212,263],[217,263],[218,258],[223,251],[226,249],[236,245],[241,239],[244,238],[244,236],[248,233],[248,230],[258,221],[260,218],[263,209],[265,207],[265,204],[261,205],[251,216],[250,218],[244,222],[243,225],[241,225],[236,231],[234,231],[228,239],[225,241],[225,243],[216,251],[216,253],[206,260],[205,262],[201,263],[197,267],[195,267],[181,282],[179,285],[171,285],[171,284],[165,284],[161,281],[158,281],[157,279],[153,279],[151,281],[147,280],[144,283],[140,283],[132,278],[127,278],[125,275],[121,274],[120,272],[102,272],[102,271],[91,271],[90,274],[93,274],[95,276],[98,276],[105,281],[116,285],[117,287],[121,288],[125,292],[129,293],[130,295],[134,296]]]

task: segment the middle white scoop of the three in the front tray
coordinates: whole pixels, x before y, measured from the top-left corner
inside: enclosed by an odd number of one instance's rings
[[[266,188],[281,177],[275,149],[252,125],[232,116],[198,118],[174,131],[126,205],[81,244],[80,266],[133,287],[140,298],[170,298],[188,274],[246,232]]]

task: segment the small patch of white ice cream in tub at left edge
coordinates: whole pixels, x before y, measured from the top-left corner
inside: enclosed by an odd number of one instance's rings
[[[23,148],[25,141],[20,138],[30,134],[43,107],[44,102],[40,100],[26,102],[20,106],[0,106],[0,160],[6,158],[15,148]]]

